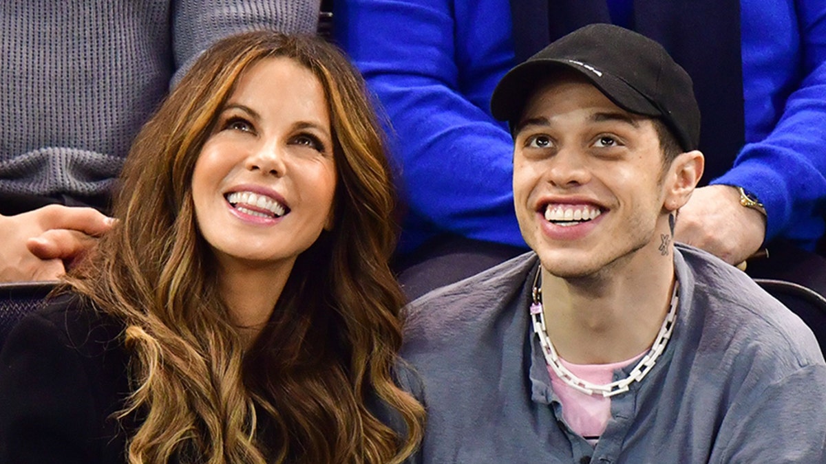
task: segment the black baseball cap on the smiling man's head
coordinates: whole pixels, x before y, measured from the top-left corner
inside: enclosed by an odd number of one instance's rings
[[[491,96],[493,116],[513,129],[539,83],[558,69],[582,73],[625,111],[662,119],[682,149],[700,143],[700,107],[686,70],[656,41],[610,24],[577,29],[510,69]]]

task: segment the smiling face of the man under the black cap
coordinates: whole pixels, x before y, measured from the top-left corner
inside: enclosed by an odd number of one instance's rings
[[[563,74],[539,88],[516,127],[516,216],[525,242],[558,277],[657,256],[657,228],[667,224],[662,174],[652,120],[583,78]]]

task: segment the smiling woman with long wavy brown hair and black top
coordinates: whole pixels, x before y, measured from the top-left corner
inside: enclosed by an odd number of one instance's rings
[[[271,32],[141,131],[117,224],[0,354],[0,462],[402,462],[393,196],[363,82]]]

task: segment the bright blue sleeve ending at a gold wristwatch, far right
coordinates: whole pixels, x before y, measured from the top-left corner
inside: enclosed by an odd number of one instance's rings
[[[791,15],[790,36],[800,41],[799,69],[794,70],[799,76],[798,84],[796,88],[790,89],[785,105],[781,107],[779,119],[768,134],[746,144],[738,154],[734,167],[711,183],[742,186],[757,195],[767,211],[767,241],[785,237],[798,244],[808,244],[807,248],[811,248],[811,244],[824,233],[822,201],[826,197],[826,2],[799,0],[789,3],[787,8],[777,5],[774,7],[796,12],[797,15],[796,22],[794,14]],[[746,8],[749,2],[742,4]],[[759,12],[754,13],[754,16],[764,13],[770,14]],[[748,25],[744,25],[743,33],[747,31]],[[760,33],[764,38],[761,45],[767,50],[782,46],[782,41],[777,40],[773,34],[767,34],[766,31]],[[774,51],[787,53],[785,50]],[[748,69],[748,63],[743,63],[743,69]],[[773,70],[775,73],[787,71]],[[750,79],[752,86],[767,82],[760,78],[745,76],[743,84],[746,86]],[[748,88],[745,91],[748,92]]]

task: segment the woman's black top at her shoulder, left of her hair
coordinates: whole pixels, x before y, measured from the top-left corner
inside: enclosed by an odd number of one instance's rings
[[[0,352],[0,462],[126,462],[123,327],[72,295],[17,324]]]

